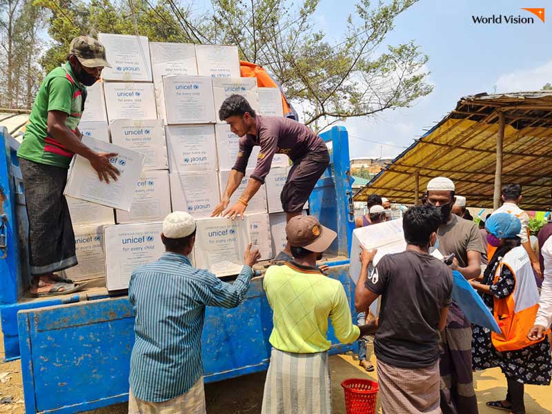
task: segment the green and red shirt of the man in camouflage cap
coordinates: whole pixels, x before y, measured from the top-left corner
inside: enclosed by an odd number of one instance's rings
[[[48,135],[48,111],[65,112],[66,126],[75,132],[85,99],[86,86],[75,79],[68,62],[48,73],[34,99],[17,156],[39,164],[68,168],[73,153]]]

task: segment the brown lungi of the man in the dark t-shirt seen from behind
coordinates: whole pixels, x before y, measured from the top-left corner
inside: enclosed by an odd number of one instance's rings
[[[377,360],[377,380],[384,414],[440,414],[439,363],[400,368]]]

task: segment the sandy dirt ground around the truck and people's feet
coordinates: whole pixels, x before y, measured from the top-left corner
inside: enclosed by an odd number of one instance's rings
[[[0,333],[0,361],[3,360],[3,338]],[[375,365],[375,357],[372,356]],[[335,355],[330,358],[332,377],[333,413],[346,414],[341,382],[351,377],[366,377],[377,380],[375,373],[366,373],[358,366],[353,355]],[[258,414],[261,412],[265,373],[256,373],[206,384],[205,394],[209,414]],[[499,400],[505,396],[506,380],[499,369],[475,374],[475,389],[479,400],[480,414],[496,414],[498,411],[485,406],[486,401]],[[527,414],[552,413],[552,386],[526,386],[525,406]],[[2,404],[3,400],[11,402]],[[23,414],[23,385],[19,360],[0,363],[0,413]],[[126,414],[127,404],[117,404],[90,414]]]

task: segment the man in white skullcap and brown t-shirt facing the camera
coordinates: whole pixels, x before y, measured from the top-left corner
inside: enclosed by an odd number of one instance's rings
[[[452,213],[455,186],[451,179],[437,177],[427,184],[427,204],[439,208],[441,225],[437,230],[438,250],[444,256],[455,254],[451,268],[466,279],[481,274],[481,255],[486,248],[477,224]],[[441,410],[444,414],[477,414],[477,397],[471,369],[471,324],[453,302],[441,333]]]

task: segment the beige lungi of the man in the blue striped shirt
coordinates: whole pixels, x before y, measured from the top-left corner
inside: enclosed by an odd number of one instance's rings
[[[203,377],[186,393],[161,402],[139,400],[128,392],[128,414],[206,414]]]

